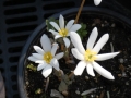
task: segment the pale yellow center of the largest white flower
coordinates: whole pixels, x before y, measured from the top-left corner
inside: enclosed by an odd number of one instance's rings
[[[84,58],[85,58],[86,61],[93,62],[96,59],[95,54],[96,54],[96,52],[91,51],[90,49],[87,49],[85,51]]]

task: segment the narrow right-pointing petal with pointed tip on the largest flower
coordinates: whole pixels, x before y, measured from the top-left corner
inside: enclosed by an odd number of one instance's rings
[[[107,59],[111,59],[111,58],[116,57],[119,53],[120,52],[104,53],[104,54],[97,54],[95,57],[96,57],[96,61],[104,61],[104,60],[107,60]]]

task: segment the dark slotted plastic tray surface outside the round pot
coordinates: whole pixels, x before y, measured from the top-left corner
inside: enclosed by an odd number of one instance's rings
[[[80,7],[82,0],[0,0],[0,71],[7,98],[20,98],[17,62],[22,48],[33,30],[45,20],[60,11]],[[95,7],[86,0],[85,7]],[[129,0],[103,0],[100,5],[131,19]]]

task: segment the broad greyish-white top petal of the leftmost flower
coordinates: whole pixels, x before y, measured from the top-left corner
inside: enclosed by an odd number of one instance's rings
[[[51,51],[51,41],[50,39],[47,37],[47,35],[43,35],[40,38],[40,44],[43,46],[43,49],[45,50],[45,52],[47,51]]]

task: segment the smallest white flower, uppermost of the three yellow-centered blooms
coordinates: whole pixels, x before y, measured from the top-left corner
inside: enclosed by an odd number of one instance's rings
[[[62,15],[59,16],[59,25],[55,22],[50,22],[50,24],[56,28],[57,32],[53,29],[49,29],[49,32],[51,32],[55,35],[55,39],[63,37],[63,41],[67,48],[70,46],[70,40],[67,38],[70,35],[70,32],[76,32],[81,28],[80,24],[73,23],[74,20],[71,20],[64,26],[64,19]]]

